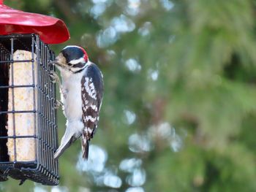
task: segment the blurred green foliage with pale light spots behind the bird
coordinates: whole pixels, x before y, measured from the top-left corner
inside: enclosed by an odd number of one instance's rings
[[[255,0],[5,3],[64,20],[71,39],[52,49],[81,45],[102,69],[91,145],[108,158],[82,170],[75,142],[58,188],[10,179],[2,191],[256,191]],[[64,123],[59,110],[59,137]]]

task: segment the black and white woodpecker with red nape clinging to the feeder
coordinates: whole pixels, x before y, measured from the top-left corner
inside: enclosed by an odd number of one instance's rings
[[[87,159],[89,142],[97,129],[102,105],[102,72],[89,61],[86,50],[75,45],[64,47],[51,63],[61,74],[62,81],[55,72],[51,77],[60,84],[61,102],[67,118],[66,131],[54,158],[59,158],[72,142],[82,137],[83,158]]]

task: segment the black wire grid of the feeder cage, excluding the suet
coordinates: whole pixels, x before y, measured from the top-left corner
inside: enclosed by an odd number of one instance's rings
[[[15,50],[28,50],[32,59],[29,61],[13,61]],[[0,181],[7,180],[7,176],[20,180],[22,184],[26,179],[44,185],[59,184],[59,161],[53,160],[53,154],[58,147],[58,134],[56,126],[56,87],[50,81],[49,73],[54,66],[54,53],[45,45],[36,34],[12,34],[0,36]],[[35,54],[37,56],[35,56]],[[36,61],[36,62],[35,62]],[[32,80],[30,85],[9,85],[9,72],[13,73],[13,65],[18,62],[31,62]],[[37,64],[37,70],[34,65]],[[36,74],[37,73],[37,74]],[[37,80],[35,80],[37,77]],[[22,77],[20,77],[22,78]],[[37,83],[36,83],[37,82]],[[15,88],[33,88],[33,110],[17,111],[14,106]],[[12,110],[8,111],[8,90],[12,90]],[[37,93],[37,96],[36,96]],[[13,136],[7,135],[8,113],[33,113],[34,135],[15,135],[15,115],[13,115]],[[17,138],[34,138],[36,145],[35,161],[17,161]],[[13,139],[15,161],[10,161],[7,140]]]

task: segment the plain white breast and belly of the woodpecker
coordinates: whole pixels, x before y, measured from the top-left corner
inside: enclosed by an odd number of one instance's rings
[[[82,118],[82,96],[81,96],[81,79],[83,72],[70,74],[61,72],[62,87],[64,89],[64,115],[67,120],[74,121]]]

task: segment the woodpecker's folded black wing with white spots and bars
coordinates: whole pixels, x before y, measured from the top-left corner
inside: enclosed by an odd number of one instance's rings
[[[82,80],[82,110],[83,110],[83,158],[88,158],[89,141],[94,137],[99,121],[99,110],[103,97],[103,77],[95,64],[86,66]]]

